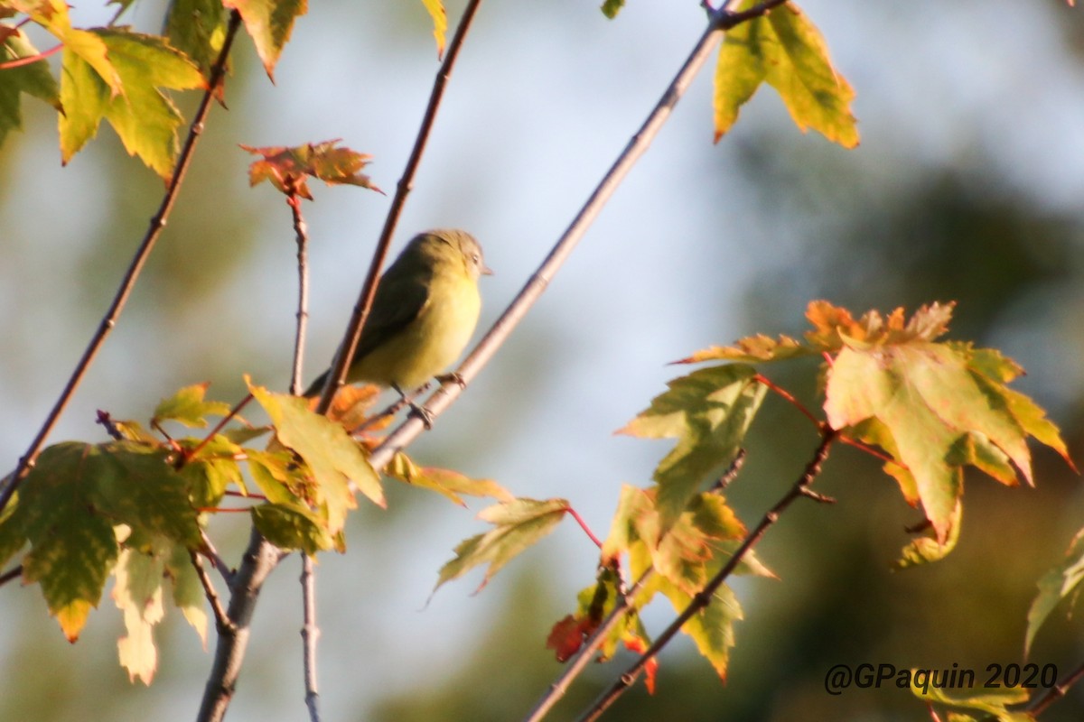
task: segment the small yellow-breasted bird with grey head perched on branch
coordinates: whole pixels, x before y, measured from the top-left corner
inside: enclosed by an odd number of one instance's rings
[[[492,273],[465,231],[414,236],[376,286],[346,380],[391,386],[408,398],[404,390],[426,383],[466,347],[481,311],[478,277]],[[305,395],[319,395],[328,372]]]

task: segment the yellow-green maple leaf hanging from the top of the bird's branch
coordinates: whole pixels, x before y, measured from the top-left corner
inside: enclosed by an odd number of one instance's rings
[[[717,141],[765,81],[803,132],[812,128],[843,147],[857,145],[850,110],[854,91],[833,67],[821,31],[792,2],[733,27],[723,38],[715,66]]]

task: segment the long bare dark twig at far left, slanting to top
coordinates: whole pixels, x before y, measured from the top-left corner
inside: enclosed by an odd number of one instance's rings
[[[72,377],[64,385],[64,390],[61,392],[60,397],[53,405],[52,410],[50,410],[44,423],[41,424],[41,429],[34,437],[34,441],[30,442],[29,448],[27,448],[26,452],[20,457],[18,465],[11,475],[11,482],[8,484],[7,488],[0,491],[0,510],[3,510],[4,507],[8,506],[8,502],[11,501],[12,495],[15,494],[15,489],[18,488],[18,485],[23,482],[30,470],[34,469],[34,464],[38,459],[38,454],[41,452],[41,447],[46,443],[46,438],[48,438],[49,434],[52,432],[53,426],[56,425],[56,421],[60,420],[61,415],[67,407],[72,396],[75,395],[76,389],[78,389],[79,384],[82,382],[91,363],[93,363],[94,357],[98,356],[98,352],[101,350],[102,344],[105,343],[106,337],[108,337],[109,332],[117,325],[120,312],[124,310],[128,302],[128,298],[131,296],[132,289],[136,287],[137,278],[139,278],[140,273],[143,271],[143,266],[146,264],[147,258],[151,255],[151,251],[154,249],[155,242],[162,235],[162,229],[166,227],[166,219],[169,216],[169,213],[173,208],[181,183],[184,181],[184,176],[188,173],[189,166],[192,161],[192,154],[196,146],[196,141],[203,133],[204,121],[207,119],[207,114],[210,111],[210,105],[215,100],[216,90],[224,77],[225,60],[230,55],[230,48],[233,45],[233,38],[237,34],[238,27],[241,27],[241,15],[234,10],[230,13],[230,22],[227,26],[225,39],[222,41],[222,50],[219,52],[218,58],[215,61],[215,65],[211,66],[207,91],[204,93],[203,101],[199,103],[195,117],[192,118],[192,124],[189,127],[188,137],[184,140],[181,153],[177,157],[177,166],[173,168],[173,174],[166,187],[166,195],[162,199],[162,205],[158,207],[158,211],[151,219],[151,224],[147,227],[146,235],[143,236],[143,240],[140,242],[136,254],[132,257],[128,271],[125,273],[124,280],[121,280],[120,287],[117,289],[117,293],[114,297],[113,302],[109,304],[108,311],[106,311],[105,316],[102,317],[98,330],[94,332],[94,336],[91,338],[86,351],[83,351],[82,356],[76,364],[75,370],[72,372]]]

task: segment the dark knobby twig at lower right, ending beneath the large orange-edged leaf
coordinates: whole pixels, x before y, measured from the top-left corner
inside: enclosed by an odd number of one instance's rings
[[[752,531],[746,535],[746,538],[741,541],[738,548],[734,551],[731,559],[723,565],[714,577],[712,577],[704,589],[697,592],[693,596],[693,601],[686,606],[678,617],[674,618],[672,622],[662,631],[661,634],[651,643],[651,646],[647,648],[644,654],[642,654],[635,662],[629,666],[624,672],[618,677],[617,681],[614,682],[591,705],[586,712],[580,718],[580,722],[591,722],[592,720],[598,719],[598,717],[606,711],[606,709],[620,697],[625,690],[628,690],[636,678],[643,671],[644,667],[648,661],[655,658],[656,655],[670,643],[681,628],[685,626],[693,615],[700,612],[700,609],[708,606],[711,603],[715,591],[723,585],[723,582],[734,573],[738,564],[741,563],[745,555],[757,546],[757,542],[761,540],[764,533],[767,531],[769,527],[775,524],[779,515],[786,511],[786,509],[795,502],[799,497],[809,497],[814,501],[820,502],[831,502],[833,499],[825,497],[823,495],[816,494],[809,489],[809,485],[813,483],[813,480],[817,477],[821,473],[821,468],[824,464],[825,459],[828,458],[828,450],[831,448],[833,442],[836,441],[838,432],[829,426],[825,425],[822,429],[821,444],[817,446],[816,451],[813,454],[813,458],[805,465],[805,470],[802,475],[798,477],[798,481],[791,485],[790,489],[779,499],[774,507],[772,507],[764,516],[760,520]]]

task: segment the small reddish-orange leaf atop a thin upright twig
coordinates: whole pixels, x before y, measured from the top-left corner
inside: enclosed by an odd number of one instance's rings
[[[359,171],[369,165],[372,156],[349,148],[336,148],[338,140],[308,143],[294,147],[266,146],[260,148],[242,145],[253,155],[263,156],[248,167],[248,183],[256,185],[268,181],[287,196],[312,200],[308,178],[317,178],[327,185],[359,185],[377,193],[372,179]]]

